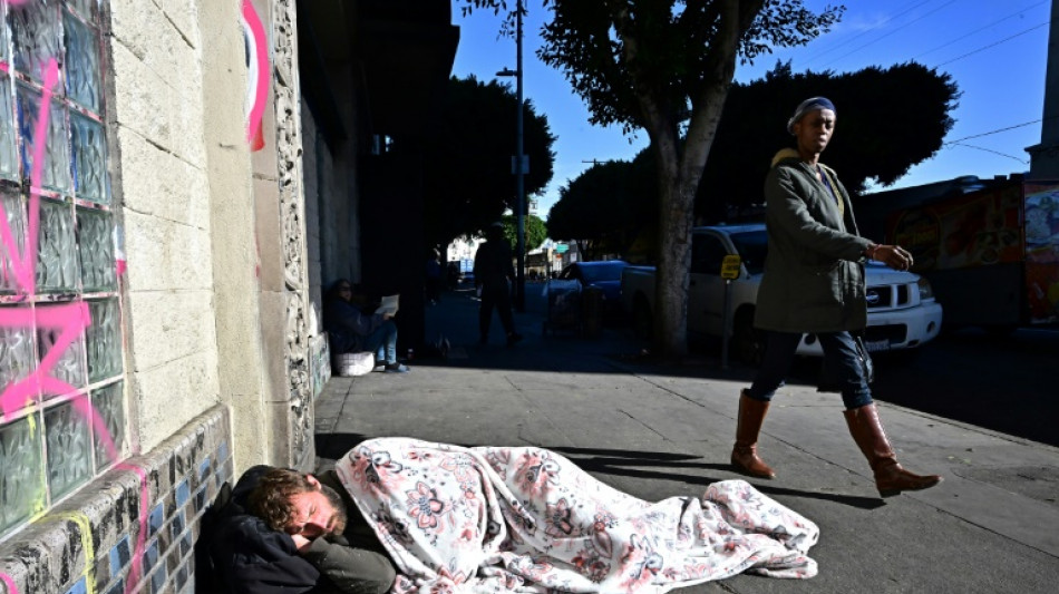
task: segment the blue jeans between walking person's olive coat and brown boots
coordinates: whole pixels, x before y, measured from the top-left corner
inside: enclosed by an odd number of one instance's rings
[[[824,350],[827,367],[835,370],[842,391],[842,402],[846,409],[872,403],[872,389],[868,388],[861,362],[857,359],[856,344],[849,332],[820,332],[816,334]],[[767,332],[765,360],[758,370],[748,396],[755,400],[768,402],[776,390],[787,381],[790,363],[801,341],[800,332]]]

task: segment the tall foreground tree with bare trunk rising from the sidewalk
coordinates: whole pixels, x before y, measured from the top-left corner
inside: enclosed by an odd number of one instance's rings
[[[464,0],[507,10],[506,0]],[[804,45],[843,7],[815,13],[803,0],[544,0],[552,20],[537,55],[563,71],[593,124],[642,128],[658,164],[655,342],[687,352],[688,269],[696,189],[737,56]],[[680,130],[687,130],[680,142]]]

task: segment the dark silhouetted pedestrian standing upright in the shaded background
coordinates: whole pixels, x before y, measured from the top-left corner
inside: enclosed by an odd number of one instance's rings
[[[479,342],[489,342],[489,323],[493,309],[501,317],[501,324],[507,333],[507,345],[522,340],[515,331],[515,318],[512,315],[511,283],[515,281],[515,266],[512,264],[512,250],[504,238],[504,225],[496,222],[485,231],[486,242],[475,253],[475,286],[480,291],[478,306]]]

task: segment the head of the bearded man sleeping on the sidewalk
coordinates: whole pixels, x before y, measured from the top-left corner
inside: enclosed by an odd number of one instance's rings
[[[247,498],[250,513],[270,528],[315,538],[346,529],[346,506],[312,475],[286,468],[265,473]]]

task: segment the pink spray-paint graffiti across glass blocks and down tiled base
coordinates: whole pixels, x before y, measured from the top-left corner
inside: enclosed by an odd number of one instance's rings
[[[23,3],[26,0],[7,1],[12,6],[17,6]],[[6,68],[7,65],[4,64],[3,67]],[[36,273],[38,231],[40,225],[40,191],[42,187],[41,173],[48,138],[48,124],[51,115],[52,88],[58,81],[58,71],[56,60],[48,60],[43,71],[43,87],[41,89],[37,123],[33,129],[33,164],[30,174],[29,221],[25,254],[19,253],[18,242],[8,225],[8,217],[3,212],[3,206],[0,205],[0,245],[2,245],[3,251],[8,255],[19,291],[28,296],[32,296],[37,292]],[[37,328],[58,332],[58,338],[56,338],[47,354],[41,358],[35,372],[9,386],[0,393],[0,421],[6,420],[9,415],[23,408],[27,402],[30,402],[35,398],[38,391],[40,393],[61,395],[70,393],[76,390],[76,388],[69,383],[51,376],[51,372],[70,344],[82,335],[90,324],[91,315],[88,310],[88,304],[84,301],[41,305],[35,310],[26,308],[0,309],[0,328],[33,328],[36,325]],[[88,398],[76,398],[72,401],[72,406],[74,410],[93,427],[94,432],[99,437],[108,457],[110,459],[117,459],[119,452],[114,442],[114,438],[107,429],[106,422],[91,406]],[[136,473],[139,476],[140,484],[139,530],[134,546],[129,580],[125,584],[125,592],[129,593],[137,585],[142,571],[140,559],[145,551],[149,490],[147,488],[147,473],[145,469],[128,462],[120,462],[116,465],[116,468]],[[86,564],[90,563],[93,563],[93,559],[86,559]],[[3,583],[9,594],[18,594],[18,588],[10,575],[0,573],[0,582]]]

